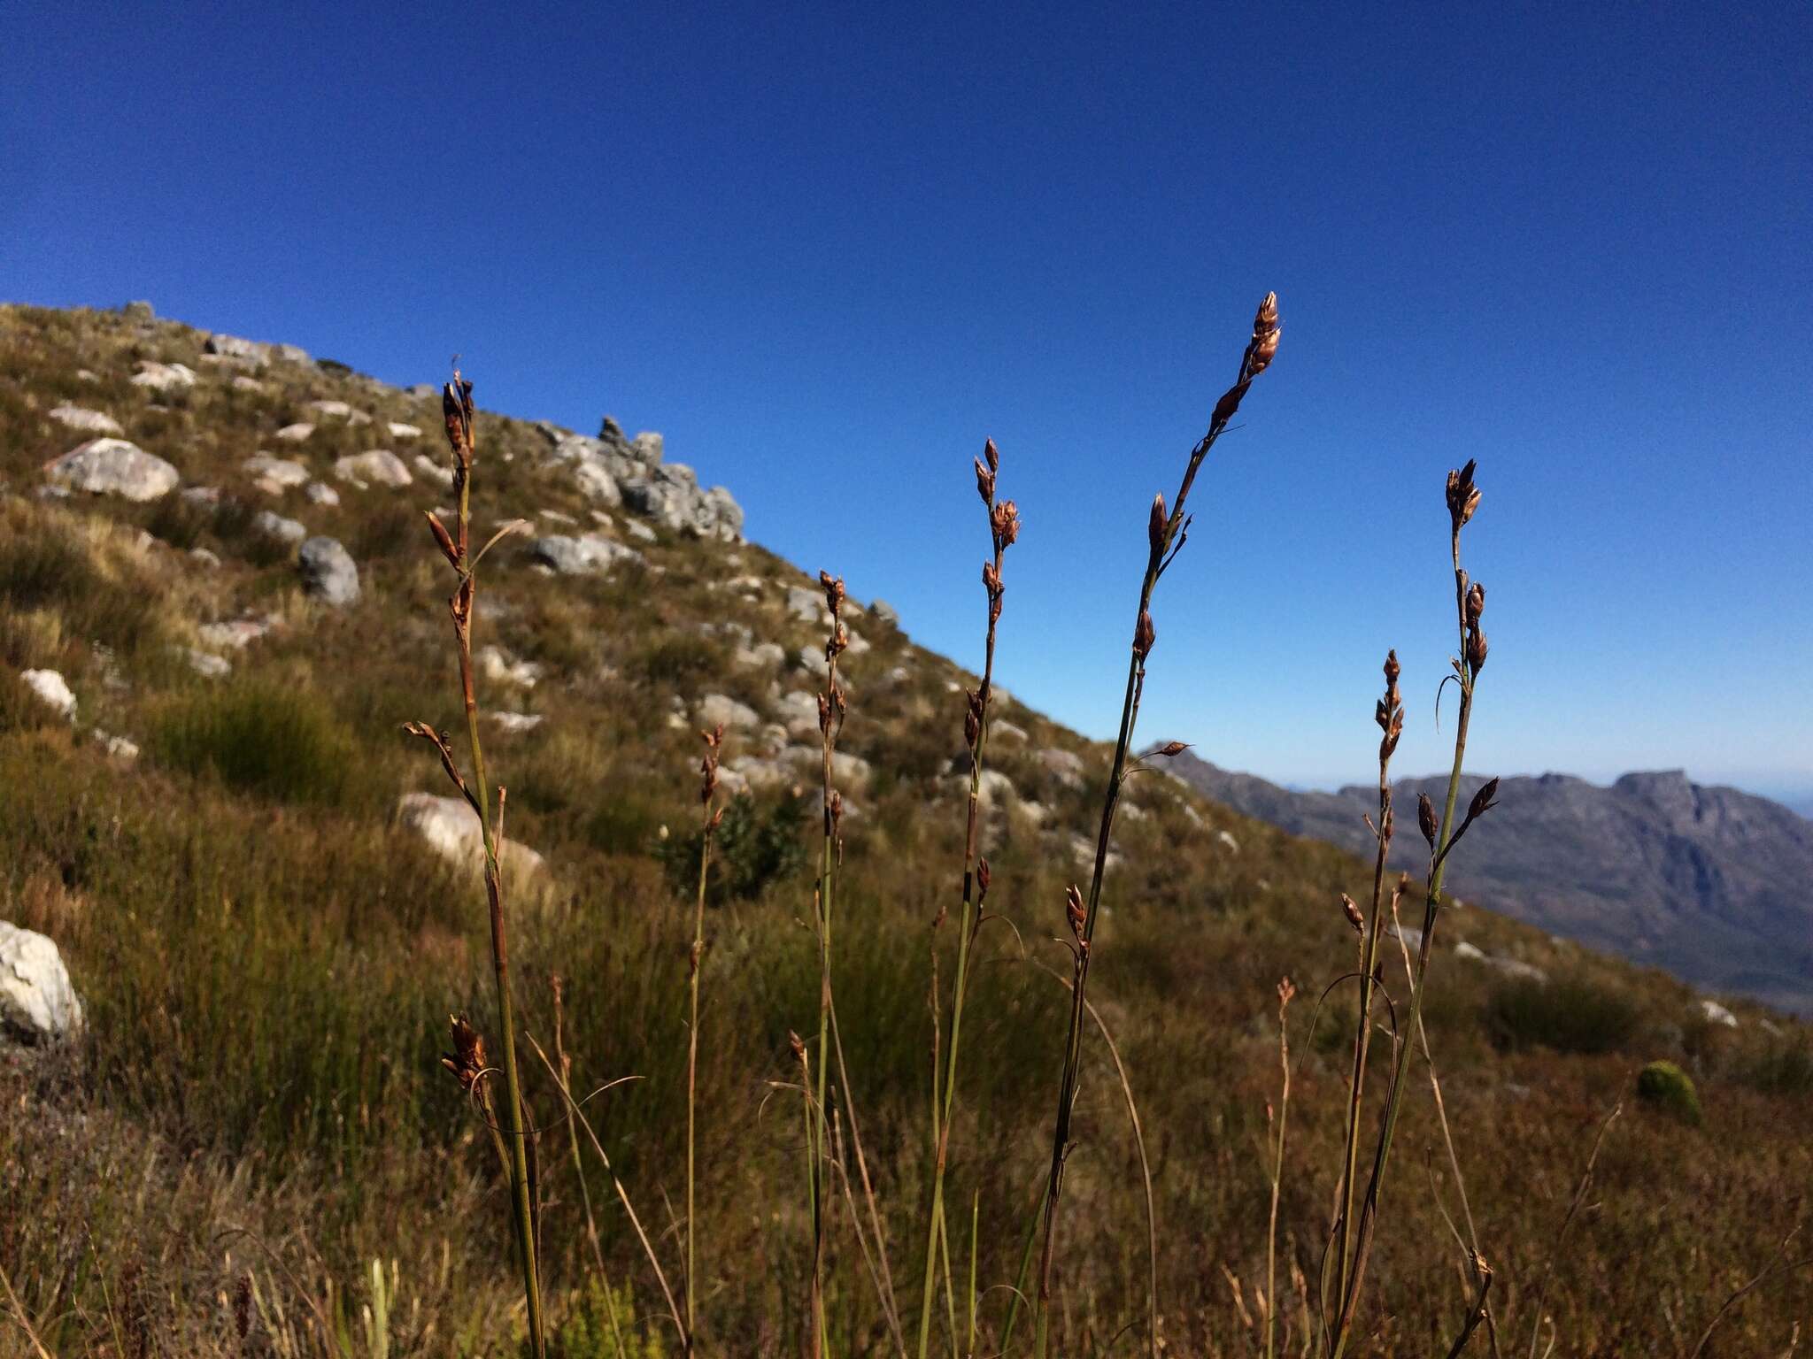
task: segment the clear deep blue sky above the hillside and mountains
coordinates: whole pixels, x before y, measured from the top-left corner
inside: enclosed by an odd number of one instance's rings
[[[1496,772],[1813,788],[1813,11],[0,7],[0,297],[283,339],[667,435],[749,533],[1119,716],[1146,506],[1276,288],[1144,730],[1443,763],[1441,478]],[[986,13],[983,13],[986,11]]]

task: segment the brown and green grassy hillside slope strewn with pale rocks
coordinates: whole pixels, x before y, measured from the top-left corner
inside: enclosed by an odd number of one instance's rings
[[[364,598],[332,612],[297,593],[290,554],[250,531],[248,509],[268,496],[239,471],[265,448],[328,478],[334,457],[390,442],[384,420],[422,426],[421,449],[442,457],[437,404],[296,364],[257,373],[265,391],[239,391],[232,368],[199,362],[201,339],[172,323],[0,308],[0,480],[9,487],[0,500],[0,919],[60,940],[91,1011],[80,1053],[0,1056],[9,1111],[0,1120],[0,1267],[65,1354],[116,1352],[116,1325],[127,1345],[141,1328],[170,1352],[236,1354],[248,1268],[267,1310],[281,1297],[297,1326],[303,1294],[328,1314],[355,1316],[373,1258],[399,1261],[399,1343],[430,1354],[508,1348],[502,1198],[473,1114],[435,1060],[450,1009],[470,1009],[480,1027],[490,1015],[479,884],[390,824],[399,794],[444,792],[399,723],[455,719],[448,580],[415,515],[435,504],[437,487],[341,487],[334,509],[297,491],[272,504],[357,558]],[[189,362],[201,382],[156,397],[127,382],[136,359]],[[82,368],[94,381],[78,379]],[[306,444],[272,442],[319,397],[344,399],[377,424],[328,419]],[[40,464],[83,439],[44,415],[62,400],[114,415],[185,484],[223,487],[223,507],[185,509],[174,496],[154,507],[40,502],[31,495]],[[542,515],[544,531],[560,531],[548,511],[587,520],[560,471],[540,466],[548,442],[538,429],[484,415],[479,442],[477,524]],[[406,460],[415,451],[397,449]],[[669,535],[636,545],[647,565],[620,567],[607,582],[549,578],[500,549],[480,594],[479,643],[500,641],[548,667],[533,690],[491,685],[482,696],[546,718],[533,732],[490,741],[495,777],[509,785],[511,834],[551,864],[517,904],[519,1004],[546,1042],[546,978],[558,968],[569,978],[577,1084],[642,1076],[595,1111],[638,1207],[664,1227],[664,1203],[682,1187],[691,924],[654,850],[660,828],[678,839],[693,824],[698,756],[691,723],[669,714],[676,701],[725,692],[776,718],[781,692],[814,687],[792,660],[781,674],[736,667],[732,643],[705,625],[745,623],[789,656],[818,629],[785,611],[785,587],[805,578],[760,547]],[[198,564],[187,547],[208,547],[221,565]],[[751,574],[763,583],[725,585]],[[970,603],[981,623],[981,594]],[[201,680],[172,652],[196,645],[198,623],[241,614],[274,614],[281,625],[234,656],[230,680]],[[903,1297],[916,1297],[928,922],[961,853],[945,770],[961,748],[961,694],[950,685],[963,674],[879,620],[856,629],[874,645],[848,658],[845,748],[876,776],[848,794],[858,812],[847,819],[838,980],[896,1277]],[[16,672],[25,667],[54,667],[71,681],[82,701],[74,728],[24,692]],[[896,678],[896,667],[905,674]],[[983,935],[950,1190],[963,1205],[981,1194],[984,1287],[1012,1279],[1024,1209],[1050,1156],[1064,1002],[1035,964],[1062,960],[1042,940],[1061,930],[1062,886],[1082,872],[1071,837],[1091,830],[1106,770],[1102,748],[1039,714],[1008,705],[1001,716],[1030,739],[994,741],[990,763],[1048,819],[1041,826],[1010,799],[984,837],[990,906],[1013,928]],[[131,736],[143,757],[111,759],[94,727]],[[1084,786],[1053,781],[1035,757],[1044,747],[1082,754]],[[740,748],[747,741],[732,734],[729,754]],[[787,797],[774,790],[758,803],[772,812]],[[1362,895],[1367,872],[1162,776],[1139,779],[1133,799],[1146,815],[1122,823],[1091,989],[1131,1071],[1153,1156],[1164,1334],[1175,1354],[1255,1354],[1265,1118],[1276,1096],[1273,986],[1289,973],[1309,993],[1293,1011],[1304,1060],[1282,1274],[1313,1274],[1334,1187],[1345,1058],[1329,1017],[1314,1036],[1307,1020],[1314,993],[1351,966],[1336,893]],[[798,1122],[790,1102],[771,1104],[769,1082],[789,1076],[787,1031],[807,1031],[816,1007],[809,910],[801,872],[725,904],[709,926],[700,1201],[713,1350],[794,1352],[800,1343],[809,1230]],[[1519,988],[1443,949],[1429,1000],[1472,1210],[1498,1268],[1499,1317],[1527,1339],[1594,1127],[1628,1096],[1643,1062],[1666,1056],[1699,1080],[1706,1123],[1686,1127],[1626,1100],[1546,1310],[1565,1354],[1688,1348],[1795,1225],[1795,1194],[1813,1183],[1806,1029],[1771,1035],[1757,1011],[1740,1011],[1735,1033],[1695,1022],[1686,988],[1479,911],[1443,930],[1449,942],[1469,939],[1556,978]],[[1331,1004],[1351,1000],[1338,993]],[[1144,1287],[1124,1105],[1100,1044],[1090,1053],[1061,1265],[1066,1352],[1077,1354],[1131,1323]],[[533,1085],[551,1120],[548,1082]],[[1463,1308],[1456,1250],[1423,1171],[1434,1136],[1421,1087],[1385,1201],[1369,1354],[1429,1348]],[[544,1147],[544,1248],[560,1316],[582,1287],[582,1230],[564,1132],[549,1132]],[[1452,1185],[1438,1178],[1452,1207]],[[591,1196],[607,1201],[602,1178]],[[966,1225],[966,1212],[954,1219]],[[615,1277],[633,1281],[645,1319],[658,1301],[645,1265],[616,1212],[602,1225]],[[221,1236],[232,1229],[250,1236]],[[660,1245],[678,1259],[673,1232]],[[966,1254],[963,1239],[952,1245]],[[1289,1285],[1282,1299],[1291,1352],[1304,1328],[1298,1294]],[[986,1299],[990,1321],[1003,1297]],[[839,1352],[887,1350],[847,1245],[832,1299]],[[1808,1276],[1779,1279],[1744,1301],[1721,1352],[1777,1354],[1809,1310]],[[254,1321],[252,1352],[281,1326]],[[0,1335],[0,1350],[16,1341]]]

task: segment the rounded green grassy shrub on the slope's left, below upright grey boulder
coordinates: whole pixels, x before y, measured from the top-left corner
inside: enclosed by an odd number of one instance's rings
[[[355,757],[350,730],[321,696],[267,681],[176,701],[152,747],[167,765],[290,803],[344,801]]]

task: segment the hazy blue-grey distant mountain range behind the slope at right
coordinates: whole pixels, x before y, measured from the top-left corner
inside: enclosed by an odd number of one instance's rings
[[[1376,808],[1376,788],[1293,792],[1188,752],[1169,768],[1236,812],[1372,853],[1362,815]],[[1465,779],[1463,805],[1481,783]],[[1445,790],[1445,777],[1394,785],[1394,868],[1421,868],[1416,794],[1440,808]],[[1608,788],[1566,774],[1512,777],[1498,801],[1456,853],[1458,897],[1695,986],[1813,1013],[1813,821],[1681,770],[1626,774]]]

